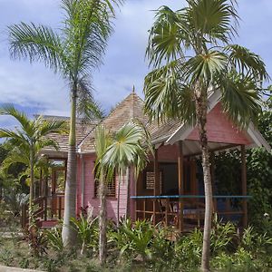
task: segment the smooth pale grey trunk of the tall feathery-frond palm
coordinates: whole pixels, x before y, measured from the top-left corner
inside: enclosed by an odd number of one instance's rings
[[[71,218],[75,218],[76,211],[76,84],[73,84],[71,97],[71,119],[69,134],[69,149],[67,162],[67,177],[65,183],[64,196],[64,216],[63,216],[63,245],[65,248],[71,248],[76,238],[75,231],[71,227]]]

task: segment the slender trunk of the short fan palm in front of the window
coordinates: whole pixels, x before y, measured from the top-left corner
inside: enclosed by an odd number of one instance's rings
[[[107,187],[103,175],[100,180],[100,213],[99,213],[99,260],[101,264],[107,257]]]

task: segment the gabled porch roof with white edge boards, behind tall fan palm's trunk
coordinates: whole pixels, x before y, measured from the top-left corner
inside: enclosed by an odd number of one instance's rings
[[[220,92],[217,90],[213,92],[209,96],[209,112],[208,114],[212,114],[212,112],[216,111],[219,108],[219,99]],[[216,112],[219,118],[219,110]],[[223,150],[223,149],[233,149],[236,148],[240,144],[245,144],[247,148],[255,148],[255,147],[264,147],[267,151],[271,151],[271,147],[267,143],[267,141],[263,138],[261,133],[255,128],[253,123],[251,122],[248,126],[248,129],[245,131],[239,131],[238,128],[232,124],[229,120],[227,121],[227,115],[224,116],[224,113],[221,113],[222,121],[225,121],[225,124],[229,126],[228,131],[220,131],[220,133],[228,133],[229,131],[233,135],[233,139],[225,140],[226,135],[220,135],[219,140],[216,141],[216,137],[211,137],[209,140],[209,149],[213,151]],[[216,118],[215,117],[215,118]],[[209,115],[208,115],[209,118]],[[225,118],[225,120],[224,120]],[[211,126],[211,125],[210,125]],[[216,129],[216,127],[214,128]],[[209,134],[209,120],[208,120],[208,134]],[[193,135],[194,134],[194,135]],[[179,121],[170,121],[168,123],[160,126],[158,131],[153,133],[153,143],[159,147],[161,144],[168,145],[174,144],[177,141],[184,141],[184,154],[199,154],[200,146],[199,141],[197,140],[197,128],[196,126],[190,126],[188,123],[180,123]],[[231,136],[231,135],[230,135]]]

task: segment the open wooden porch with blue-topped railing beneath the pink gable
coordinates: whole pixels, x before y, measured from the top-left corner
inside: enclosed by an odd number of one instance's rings
[[[186,146],[192,141],[159,146],[154,158],[137,181],[134,201],[135,219],[152,219],[153,224],[179,228],[187,232],[204,225],[205,196],[201,167],[196,156]],[[195,142],[196,144],[196,142]],[[238,227],[248,225],[247,170],[245,145],[210,143],[210,174],[213,187],[213,212],[223,221],[233,221]],[[238,148],[241,151],[239,191],[236,195],[221,195],[216,189],[215,152]],[[164,151],[161,151],[164,150]],[[168,151],[167,151],[168,150]],[[165,156],[165,154],[168,154]]]

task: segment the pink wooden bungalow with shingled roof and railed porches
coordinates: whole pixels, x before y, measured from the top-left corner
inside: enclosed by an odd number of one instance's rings
[[[242,163],[240,193],[236,196],[219,196],[215,193],[214,211],[222,219],[235,220],[238,224],[246,226],[249,196],[245,151],[254,147],[264,147],[270,151],[270,146],[252,124],[248,130],[239,131],[221,111],[219,95],[219,92],[214,92],[209,97],[207,124],[213,184],[217,179],[213,165],[215,153],[240,149]],[[128,170],[124,177],[116,176],[109,182],[107,199],[109,219],[117,219],[120,191],[120,217],[152,219],[154,223],[162,221],[165,225],[179,228],[180,231],[195,226],[201,227],[205,204],[202,172],[196,163],[200,156],[197,128],[174,120],[160,126],[150,124],[147,116],[143,114],[143,101],[135,92],[131,92],[120,102],[102,124],[110,131],[117,131],[131,119],[142,121],[151,132],[155,153],[137,180],[132,170]],[[88,208],[92,209],[94,216],[100,209],[98,183],[93,173],[95,161],[93,131],[96,125],[97,122],[85,126],[77,124],[77,212],[79,213],[81,208]],[[37,210],[37,217],[43,227],[53,226],[58,219],[62,219],[64,208],[68,135],[52,134],[51,137],[58,142],[60,149],[43,151],[43,155],[53,162],[53,167],[49,177],[45,178],[41,173],[35,199],[40,207]],[[216,188],[214,190],[216,191]],[[234,200],[238,203],[235,207],[232,205]]]

